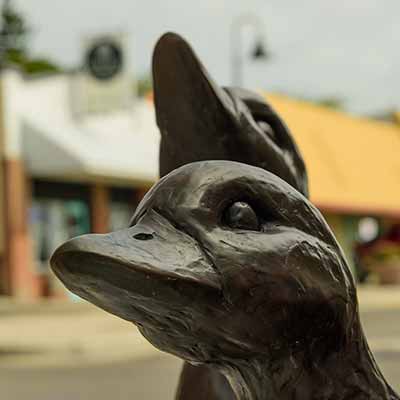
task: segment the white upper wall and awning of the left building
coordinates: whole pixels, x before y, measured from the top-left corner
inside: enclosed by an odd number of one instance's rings
[[[155,181],[159,134],[152,103],[76,118],[76,78],[2,73],[6,158],[21,159],[39,177]]]

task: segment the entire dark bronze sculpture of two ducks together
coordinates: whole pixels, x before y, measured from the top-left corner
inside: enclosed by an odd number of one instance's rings
[[[174,34],[157,44],[153,73],[161,175],[236,160],[307,195],[297,147],[262,98],[219,88]],[[397,398],[368,350],[329,228],[268,172],[183,167],[129,229],[73,239],[52,266],[73,292],[201,365],[186,364],[180,400]]]

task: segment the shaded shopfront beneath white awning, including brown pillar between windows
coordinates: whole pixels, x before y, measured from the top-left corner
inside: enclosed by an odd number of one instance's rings
[[[51,254],[61,243],[127,226],[142,193],[141,188],[34,179],[28,219],[38,294],[59,297],[66,293],[49,269]]]

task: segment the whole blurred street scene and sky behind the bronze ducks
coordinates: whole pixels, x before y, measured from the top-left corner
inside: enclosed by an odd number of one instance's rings
[[[359,285],[400,388],[400,25],[396,0],[3,0],[0,382],[8,399],[172,399],[180,362],[68,293],[70,237],[126,226],[157,180],[151,54],[176,31],[215,80],[289,125],[311,200]],[[397,367],[396,367],[397,366]]]

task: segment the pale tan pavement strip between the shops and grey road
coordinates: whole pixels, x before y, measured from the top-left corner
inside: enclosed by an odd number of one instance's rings
[[[400,287],[360,287],[363,314],[399,310]],[[386,341],[385,341],[386,340]],[[400,349],[400,337],[372,338],[373,347]],[[159,352],[135,326],[86,303],[16,303],[0,299],[0,368],[82,365],[141,359]]]

